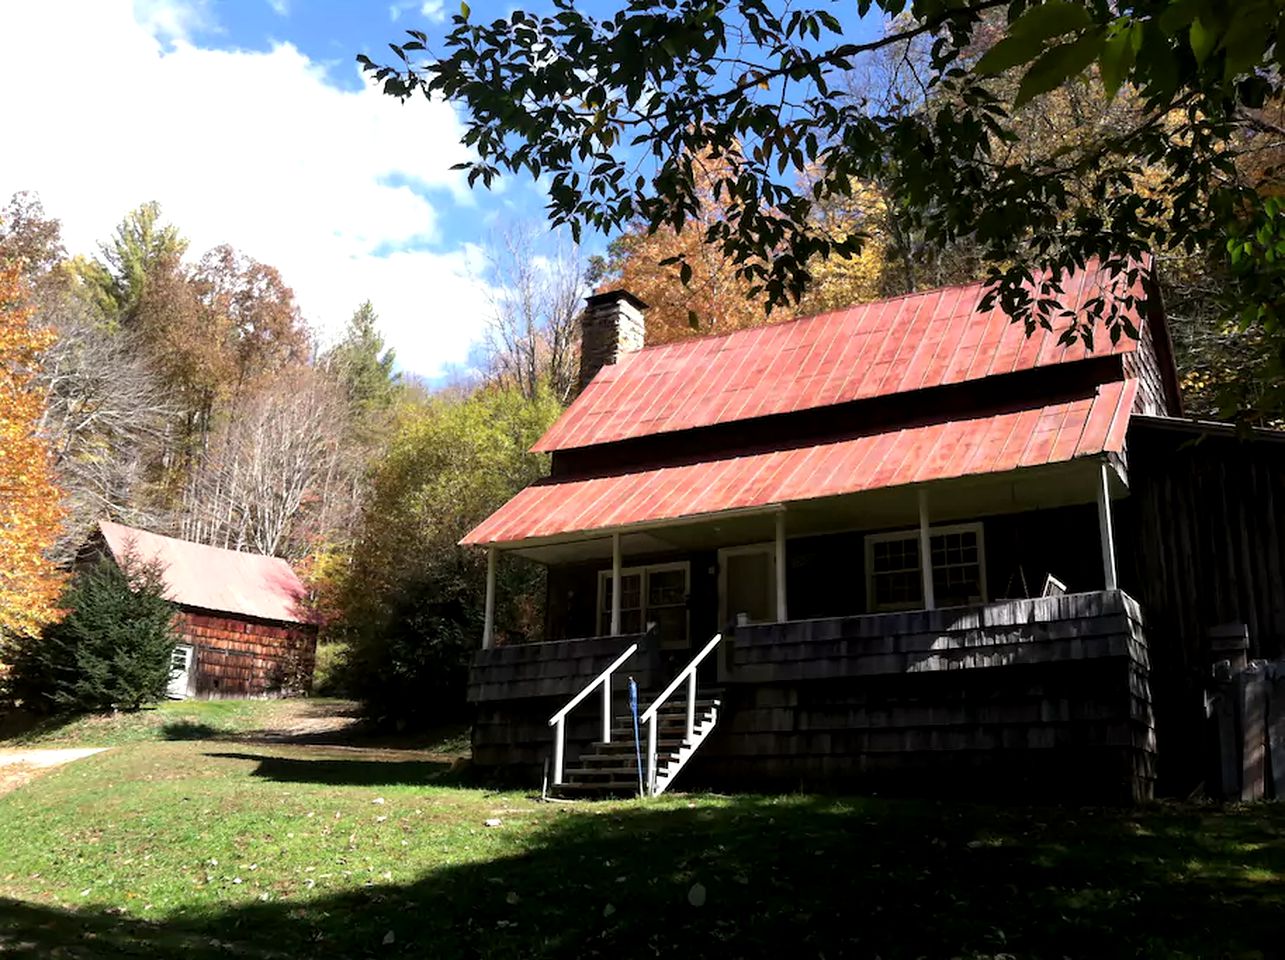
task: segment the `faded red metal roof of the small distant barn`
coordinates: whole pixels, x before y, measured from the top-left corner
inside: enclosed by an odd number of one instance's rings
[[[159,560],[168,596],[177,604],[289,623],[307,622],[299,609],[307,591],[290,564],[279,556],[193,544],[108,520],[98,526],[117,563],[130,550],[144,562]]]

